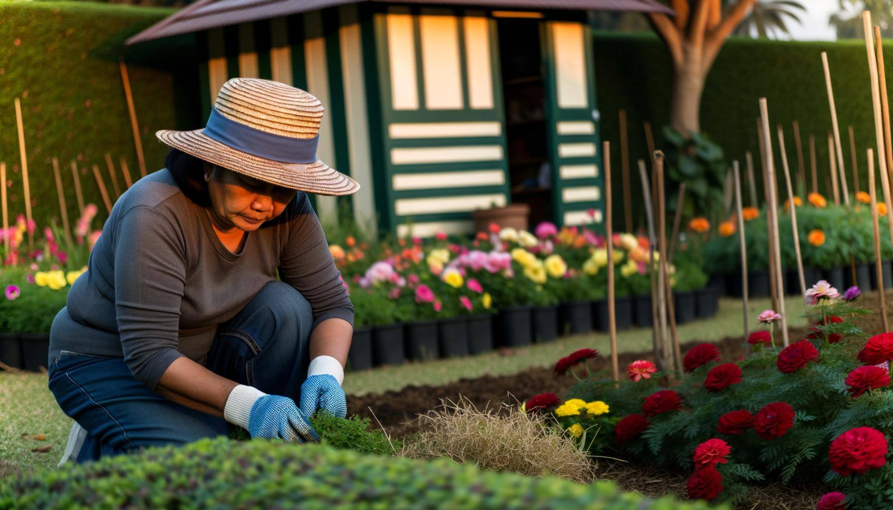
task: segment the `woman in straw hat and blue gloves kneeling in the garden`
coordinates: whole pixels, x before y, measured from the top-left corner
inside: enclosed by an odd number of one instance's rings
[[[354,309],[305,193],[359,185],[316,158],[322,111],[230,79],[204,130],[156,133],[166,168],[115,204],[50,333],[49,388],[75,420],[60,464],[228,422],[319,441],[313,412],[345,416]]]

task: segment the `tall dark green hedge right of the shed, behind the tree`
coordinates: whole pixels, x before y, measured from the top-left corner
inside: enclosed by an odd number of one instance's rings
[[[893,45],[885,45],[888,77],[893,74]],[[619,144],[618,110],[625,108],[629,119],[630,159],[632,160],[633,202],[636,222],[644,225],[641,190],[635,160],[647,157],[643,121],[650,121],[658,147],[663,143],[661,127],[670,120],[672,66],[663,42],[655,34],[621,34],[598,31],[594,37],[598,109],[601,112],[602,138]],[[831,82],[837,104],[844,165],[850,193],[854,191],[852,161],[847,126],[853,126],[861,188],[868,186],[865,149],[874,146],[874,113],[868,76],[868,61],[862,40],[837,42],[793,42],[767,39],[730,38],[707,76],[701,103],[701,129],[725,150],[726,161],[741,162],[744,153],[754,155],[760,172],[756,118],[760,97],[769,102],[772,144],[776,169],[781,171],[781,156],[775,126],[785,130],[785,144],[791,171],[797,172],[797,149],[792,121],[799,121],[803,139],[806,179],[810,180],[809,142],[815,136],[819,190],[831,196],[828,177],[827,132],[831,129],[828,94],[822,71],[822,51],[828,52]],[[619,145],[616,145],[619,147]],[[620,150],[613,152],[612,168],[620,169]],[[745,174],[742,173],[742,176]],[[787,196],[783,180],[780,194]],[[622,218],[622,189],[615,186],[615,214]],[[757,175],[757,193],[762,196],[762,180]],[[749,205],[747,185],[742,199]],[[762,202],[761,202],[762,203]]]

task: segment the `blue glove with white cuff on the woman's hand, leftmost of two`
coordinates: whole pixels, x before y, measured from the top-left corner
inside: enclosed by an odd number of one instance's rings
[[[239,384],[232,389],[223,417],[246,429],[252,438],[320,442],[320,437],[294,400],[267,395],[252,386]]]

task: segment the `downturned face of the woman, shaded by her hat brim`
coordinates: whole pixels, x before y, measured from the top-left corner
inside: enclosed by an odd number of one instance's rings
[[[204,163],[211,213],[222,230],[252,231],[282,213],[295,197],[282,188],[211,163]]]

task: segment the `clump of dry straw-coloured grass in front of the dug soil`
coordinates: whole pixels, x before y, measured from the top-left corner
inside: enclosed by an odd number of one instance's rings
[[[430,459],[448,457],[489,471],[554,475],[591,483],[592,464],[574,441],[538,414],[509,410],[497,414],[479,410],[466,398],[445,402],[442,410],[420,415],[423,431],[407,441],[398,456]]]

